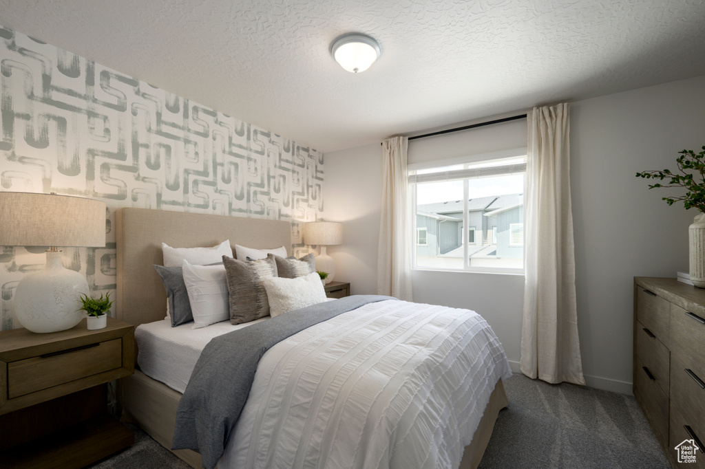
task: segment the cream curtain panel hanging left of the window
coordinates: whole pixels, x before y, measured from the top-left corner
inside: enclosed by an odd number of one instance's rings
[[[409,139],[382,142],[382,212],[379,220],[377,293],[412,301],[411,218],[406,154]]]

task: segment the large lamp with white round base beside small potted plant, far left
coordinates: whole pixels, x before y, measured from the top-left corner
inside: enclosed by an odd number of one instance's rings
[[[15,288],[15,314],[27,330],[71,329],[83,318],[83,275],[61,265],[56,246],[105,246],[105,203],[82,197],[0,192],[0,246],[51,246],[47,265]]]

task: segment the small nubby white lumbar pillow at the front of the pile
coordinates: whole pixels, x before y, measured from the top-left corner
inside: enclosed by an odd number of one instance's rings
[[[271,277],[262,284],[272,317],[326,301],[321,277],[315,272],[296,278]]]

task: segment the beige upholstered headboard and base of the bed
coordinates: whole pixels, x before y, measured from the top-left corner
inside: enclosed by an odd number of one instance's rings
[[[119,209],[116,212],[116,318],[135,327],[164,321],[166,294],[159,275],[152,267],[162,262],[162,242],[170,246],[192,247],[214,246],[223,239],[230,239],[231,244],[256,249],[283,245],[287,246],[290,254],[291,230],[291,224],[281,220],[142,208]],[[491,394],[488,394],[472,441],[462,452],[461,468],[476,468],[479,465],[497,415],[507,405],[501,379],[496,380]],[[180,399],[181,392],[152,379],[142,370],[136,370],[135,375],[118,382],[118,401],[123,408],[123,418],[140,425],[167,449],[172,446]],[[174,450],[173,453],[194,468],[202,467],[200,454],[195,451]]]

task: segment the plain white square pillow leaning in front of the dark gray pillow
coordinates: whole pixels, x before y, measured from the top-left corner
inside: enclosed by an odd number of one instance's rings
[[[193,329],[230,319],[225,265],[191,265],[183,261],[182,270]]]

